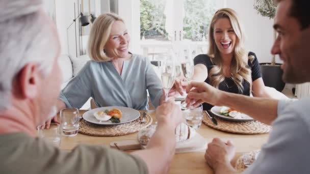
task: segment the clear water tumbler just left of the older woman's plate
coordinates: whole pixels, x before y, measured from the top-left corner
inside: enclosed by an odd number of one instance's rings
[[[60,111],[62,135],[75,136],[80,128],[80,113],[77,108],[64,108]]]

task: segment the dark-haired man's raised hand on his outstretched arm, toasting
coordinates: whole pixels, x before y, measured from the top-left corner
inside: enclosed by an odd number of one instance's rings
[[[188,93],[186,103],[189,106],[197,107],[201,103],[210,103],[218,105],[221,98],[222,91],[215,89],[208,83],[192,81],[186,89]]]

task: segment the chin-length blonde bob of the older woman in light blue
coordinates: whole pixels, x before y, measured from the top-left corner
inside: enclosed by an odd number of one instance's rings
[[[104,13],[94,21],[88,40],[88,53],[92,60],[97,62],[111,61],[104,51],[104,47],[109,40],[112,24],[115,21],[123,21],[118,15],[113,13]]]

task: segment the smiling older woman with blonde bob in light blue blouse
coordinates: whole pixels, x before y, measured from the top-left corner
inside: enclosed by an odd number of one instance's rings
[[[88,42],[91,61],[62,90],[58,110],[79,108],[89,97],[99,107],[148,109],[147,90],[152,104],[159,106],[165,98],[161,80],[146,57],[128,51],[129,42],[119,16],[106,13],[97,17]]]

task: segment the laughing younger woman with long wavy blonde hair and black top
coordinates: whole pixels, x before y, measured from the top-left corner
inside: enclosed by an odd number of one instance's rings
[[[193,81],[204,81],[215,88],[254,97],[270,97],[265,89],[255,53],[244,48],[244,31],[236,12],[220,9],[209,30],[209,53],[194,58]],[[203,109],[212,105],[203,103]]]

